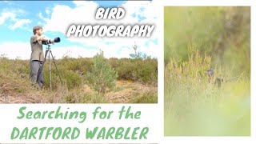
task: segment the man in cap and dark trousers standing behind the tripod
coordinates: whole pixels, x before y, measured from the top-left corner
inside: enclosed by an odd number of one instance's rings
[[[36,87],[38,83],[38,89],[42,90],[43,76],[42,67],[45,62],[45,58],[42,50],[42,41],[48,41],[45,35],[42,35],[42,27],[34,26],[34,35],[30,38],[31,56],[30,56],[30,79],[31,87]]]

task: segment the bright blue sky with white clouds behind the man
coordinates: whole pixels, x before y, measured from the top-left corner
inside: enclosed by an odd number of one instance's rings
[[[126,10],[119,20],[96,20],[98,7],[119,7]],[[91,58],[103,50],[106,58],[130,58],[136,44],[138,51],[157,58],[158,10],[155,3],[143,1],[1,1],[0,2],[0,55],[7,58],[30,59],[30,37],[34,26],[42,26],[49,38],[61,38],[51,45],[55,58]],[[150,38],[74,38],[66,37],[71,24],[100,25],[154,25]],[[46,46],[44,46],[44,50]]]

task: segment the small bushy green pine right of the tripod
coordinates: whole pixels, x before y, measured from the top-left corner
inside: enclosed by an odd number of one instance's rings
[[[86,82],[89,86],[97,90],[98,93],[105,93],[107,89],[112,89],[116,85],[118,74],[106,62],[103,52],[94,56],[94,65],[91,72],[86,74]]]

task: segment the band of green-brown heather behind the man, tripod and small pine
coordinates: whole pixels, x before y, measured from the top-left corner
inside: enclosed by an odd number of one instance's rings
[[[158,82],[158,60],[156,58],[110,58],[105,59],[107,63],[118,74],[118,80],[142,82],[144,84],[156,84]],[[94,58],[62,58],[55,59],[58,66],[62,83],[58,78],[54,62],[51,61],[52,88],[56,90],[58,86],[74,89],[82,86],[86,82],[85,75],[92,73]],[[0,66],[2,74],[8,74],[13,78],[22,78],[30,82],[30,62],[29,60],[11,60],[0,56]],[[14,69],[10,69],[10,68]],[[43,67],[44,88],[50,88],[50,74],[48,59]]]

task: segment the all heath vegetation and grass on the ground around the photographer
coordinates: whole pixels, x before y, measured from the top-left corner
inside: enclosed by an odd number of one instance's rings
[[[69,58],[52,62],[50,91],[49,62],[44,66],[44,88],[30,88],[28,60],[0,57],[0,103],[112,103],[158,102],[156,58],[110,58],[97,54],[94,58]],[[106,77],[97,76],[102,71]],[[100,79],[102,78],[102,79]],[[96,82],[97,84],[95,85]],[[103,87],[102,87],[103,86]],[[98,90],[98,88],[101,90]],[[138,101],[140,98],[150,98]]]

